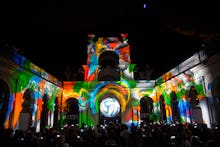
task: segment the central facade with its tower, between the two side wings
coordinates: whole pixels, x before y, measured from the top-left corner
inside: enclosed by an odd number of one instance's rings
[[[95,35],[89,35],[84,81],[64,82],[63,103],[69,97],[77,99],[80,123],[140,123],[140,99],[152,95],[155,81],[134,80],[127,34],[122,34],[121,41],[117,37],[94,39]],[[153,101],[156,98],[149,105]],[[65,105],[62,110],[66,112]]]

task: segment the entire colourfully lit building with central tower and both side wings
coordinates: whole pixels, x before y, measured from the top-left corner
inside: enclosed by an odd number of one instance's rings
[[[38,131],[109,122],[219,124],[220,54],[204,50],[155,80],[135,80],[127,34],[89,34],[83,81],[58,81],[8,48],[0,48],[0,122]]]

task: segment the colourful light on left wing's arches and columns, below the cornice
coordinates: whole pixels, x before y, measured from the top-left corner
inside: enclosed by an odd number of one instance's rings
[[[44,79],[40,79],[38,76],[20,74],[18,78],[17,84],[17,92],[15,93],[15,99],[13,99],[14,103],[14,122],[13,127],[16,127],[17,122],[19,120],[20,113],[22,111],[23,103],[25,102],[24,94],[27,90],[30,90],[33,93],[31,96],[31,102],[28,104],[30,107],[33,107],[33,111],[31,114],[32,117],[32,125],[34,126],[37,123],[37,128],[40,125],[41,112],[42,112],[42,104],[44,103],[42,98],[44,95],[47,95],[47,107],[48,107],[48,115],[54,111],[55,99],[60,98],[60,89],[57,85],[54,85],[50,82],[47,82]],[[49,117],[50,118],[50,117]],[[10,122],[12,123],[12,122]],[[49,126],[53,126],[53,122],[48,122]]]

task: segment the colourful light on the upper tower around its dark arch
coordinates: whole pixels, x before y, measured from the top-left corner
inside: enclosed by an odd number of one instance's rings
[[[122,70],[122,75],[133,78],[131,68],[135,65],[130,65],[130,46],[127,43],[127,34],[122,34],[123,41],[119,41],[116,37],[98,38],[94,41],[95,35],[89,34],[89,45],[87,46],[87,65],[83,65],[85,81],[97,81],[99,73],[99,56],[105,51],[113,51],[119,56],[119,66]]]

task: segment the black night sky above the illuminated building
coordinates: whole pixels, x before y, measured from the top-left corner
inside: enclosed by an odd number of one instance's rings
[[[88,33],[128,33],[132,63],[149,64],[157,78],[219,32],[220,14],[201,0],[23,0],[1,11],[1,40],[58,79],[67,65],[86,64]]]

